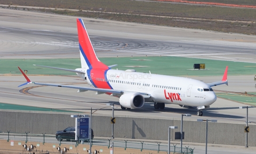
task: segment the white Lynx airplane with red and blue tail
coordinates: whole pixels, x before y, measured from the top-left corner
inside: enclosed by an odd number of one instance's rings
[[[217,100],[212,86],[228,85],[228,66],[221,81],[208,84],[186,77],[151,74],[150,71],[144,73],[136,72],[134,69],[111,69],[116,64],[106,66],[98,59],[82,19],[77,19],[77,31],[81,68],[72,70],[35,64],[34,66],[75,72],[91,87],[31,82],[18,67],[27,80],[26,83],[20,86],[33,83],[36,85],[75,88],[78,89],[78,92],[95,91],[96,94],[108,94],[119,98],[123,110],[142,108],[145,102],[154,102],[155,109],[164,109],[165,103],[178,104],[181,107],[197,108],[197,116],[203,116],[202,110],[209,108]]]

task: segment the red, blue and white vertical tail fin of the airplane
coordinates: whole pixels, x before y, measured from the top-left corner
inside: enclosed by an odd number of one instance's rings
[[[89,35],[87,34],[84,22],[82,19],[77,19],[77,31],[78,31],[78,42],[81,58],[81,67],[92,69],[109,69],[104,63],[98,58],[92,46]]]

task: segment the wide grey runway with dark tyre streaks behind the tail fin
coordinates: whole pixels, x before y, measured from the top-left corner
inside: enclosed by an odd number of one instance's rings
[[[1,58],[78,58],[77,17],[8,9],[0,12]],[[83,20],[99,57],[168,55],[256,62],[251,56],[255,36]]]

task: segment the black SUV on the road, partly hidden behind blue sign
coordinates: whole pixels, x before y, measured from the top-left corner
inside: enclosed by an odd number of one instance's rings
[[[76,128],[75,127],[67,127],[63,131],[56,132],[56,139],[58,141],[62,140],[75,140],[76,139]],[[91,137],[93,139],[93,130],[91,130]]]

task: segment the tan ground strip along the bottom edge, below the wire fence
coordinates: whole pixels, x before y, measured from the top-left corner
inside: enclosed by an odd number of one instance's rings
[[[27,147],[30,147],[31,144],[34,146],[34,149],[30,149],[30,151],[25,149],[24,144],[27,145]],[[60,153],[58,151],[58,147],[63,150],[67,149],[68,153],[88,153],[87,150],[90,149],[89,145],[86,144],[79,144],[78,146],[75,145],[69,145],[69,144],[61,144],[58,143],[42,143],[42,142],[27,142],[25,141],[9,141],[6,140],[0,140],[0,153]],[[111,148],[104,147],[104,146],[98,146],[98,145],[92,145],[92,151],[94,152],[97,150],[97,153],[100,154],[109,154]],[[98,152],[99,151],[99,152]],[[142,150],[140,149],[126,149],[124,148],[114,148],[114,153],[123,153],[123,154],[142,154],[142,153],[159,153],[159,154],[166,154],[166,151],[154,151],[154,150]]]

